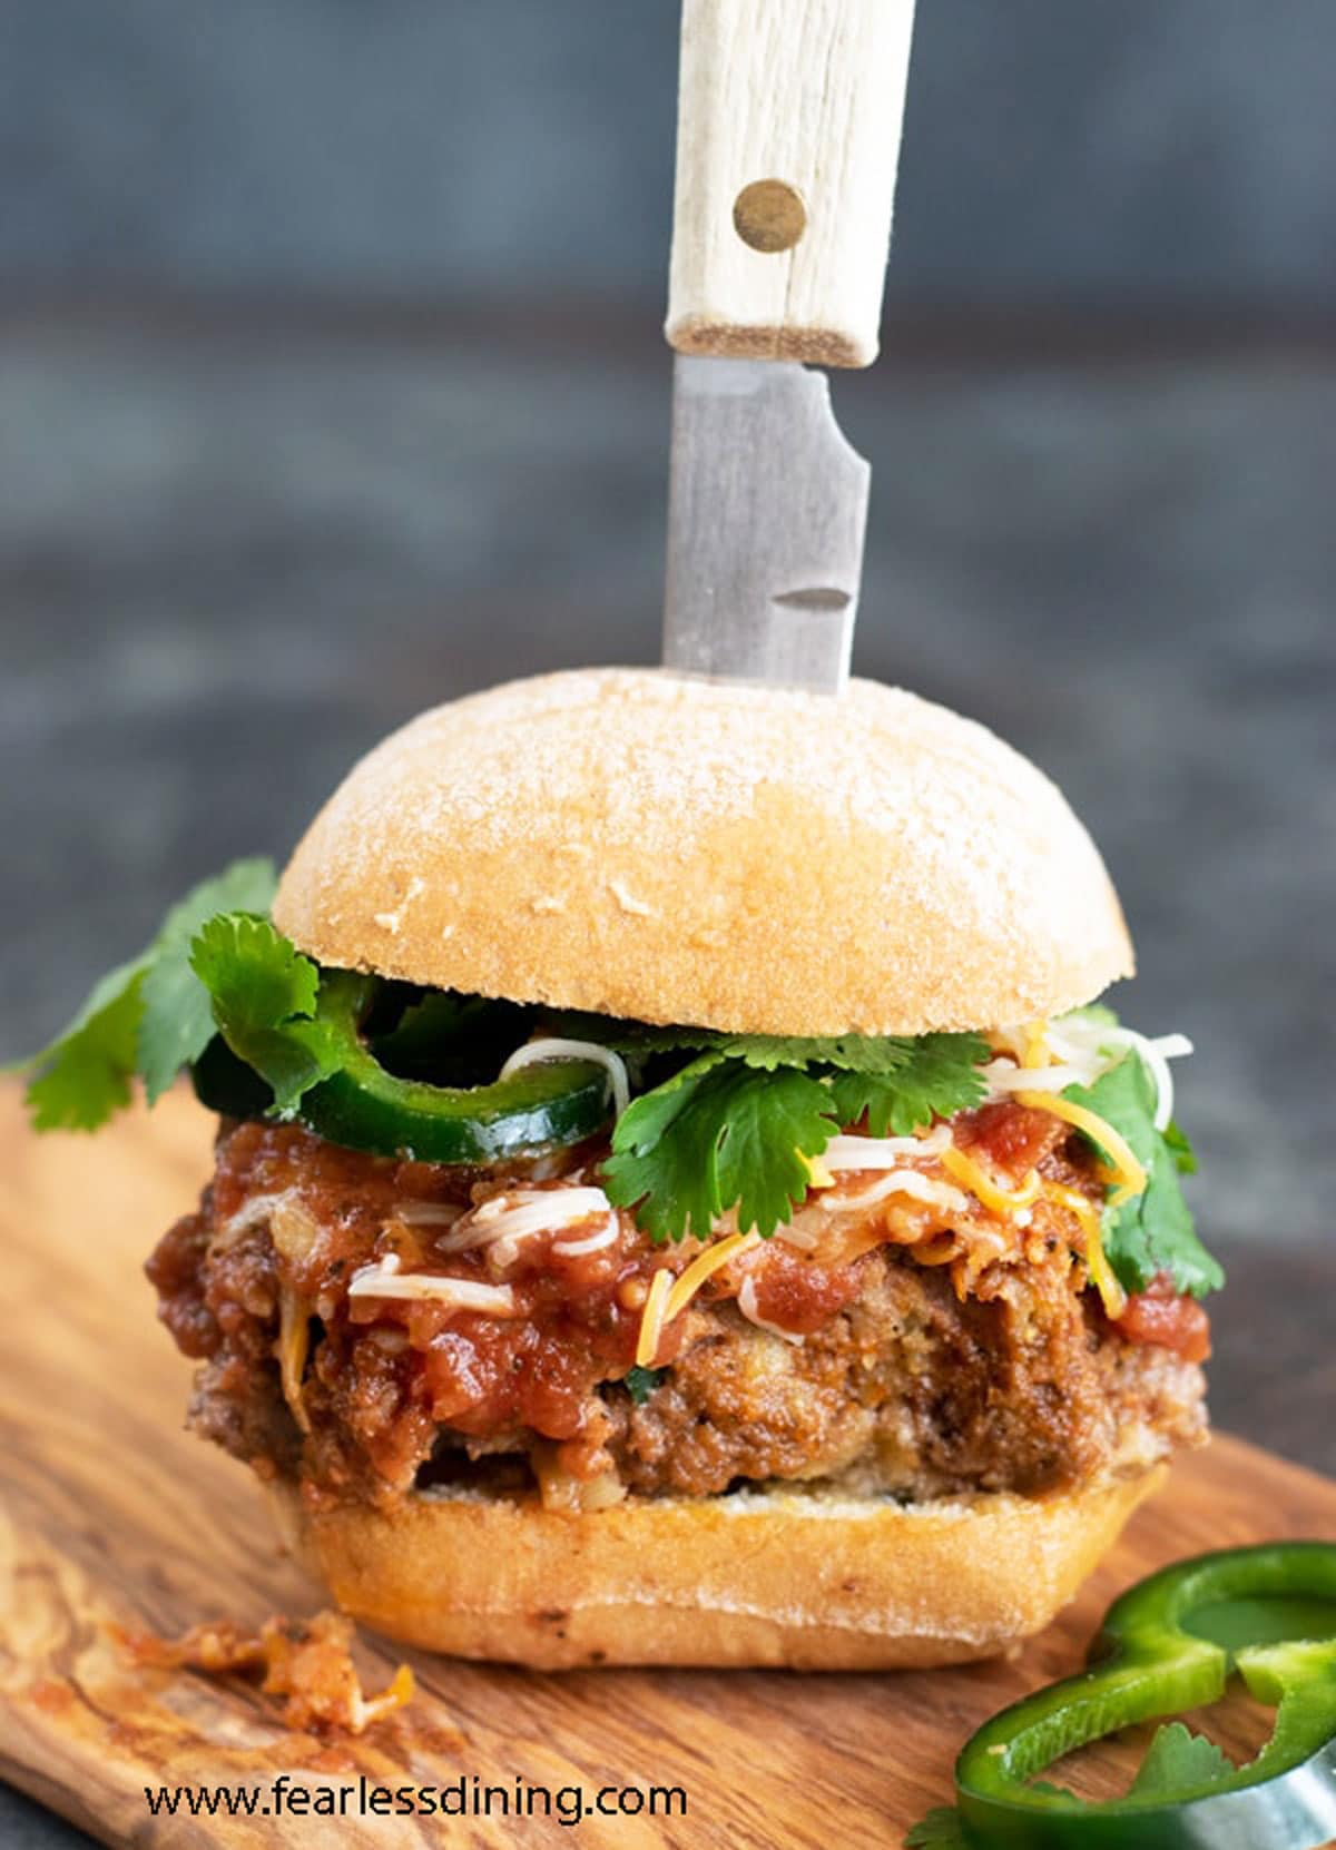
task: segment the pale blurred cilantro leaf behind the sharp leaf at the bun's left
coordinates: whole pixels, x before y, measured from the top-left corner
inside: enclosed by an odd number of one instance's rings
[[[200,1058],[215,1032],[209,995],[191,969],[191,940],[216,912],[268,912],[274,884],[270,860],[235,860],[216,879],[187,894],[163,919],[144,977],[144,1012],[135,1042],[135,1066],[150,1104],[183,1066]]]

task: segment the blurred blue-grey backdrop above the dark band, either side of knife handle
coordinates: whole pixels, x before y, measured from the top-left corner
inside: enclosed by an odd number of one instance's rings
[[[0,278],[653,296],[675,31],[675,0],[0,0]],[[1323,307],[1334,172],[1330,0],[923,0],[892,300]]]

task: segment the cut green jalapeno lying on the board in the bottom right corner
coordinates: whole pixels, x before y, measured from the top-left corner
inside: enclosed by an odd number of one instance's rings
[[[1192,1630],[1229,1602],[1336,1600],[1336,1547],[1268,1543],[1206,1554],[1153,1574],[1110,1606],[1079,1676],[986,1722],[957,1761],[966,1837],[1033,1850],[1306,1850],[1336,1835],[1336,1639],[1225,1646]],[[1262,1752],[1227,1778],[1171,1798],[1086,1804],[1025,1782],[1064,1754],[1132,1722],[1214,1702],[1231,1671],[1275,1706]]]

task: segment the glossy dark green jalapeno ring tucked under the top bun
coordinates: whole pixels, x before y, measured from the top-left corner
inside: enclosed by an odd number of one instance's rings
[[[361,1036],[376,982],[326,975],[315,1021],[292,1030],[294,1038],[320,1036],[335,1060],[335,1071],[292,1114],[328,1143],[411,1162],[487,1166],[581,1143],[607,1125],[607,1071],[588,1060],[535,1062],[490,1086],[431,1086],[387,1071]],[[194,1086],[228,1116],[257,1116],[261,1093],[272,1104],[263,1079],[220,1042],[196,1062]]]

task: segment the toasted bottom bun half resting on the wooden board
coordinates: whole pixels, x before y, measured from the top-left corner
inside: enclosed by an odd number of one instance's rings
[[[799,1487],[629,1498],[590,1515],[459,1493],[279,1526],[339,1606],[459,1658],[894,1671],[1042,1632],[1164,1467],[1047,1498],[901,1508]]]

